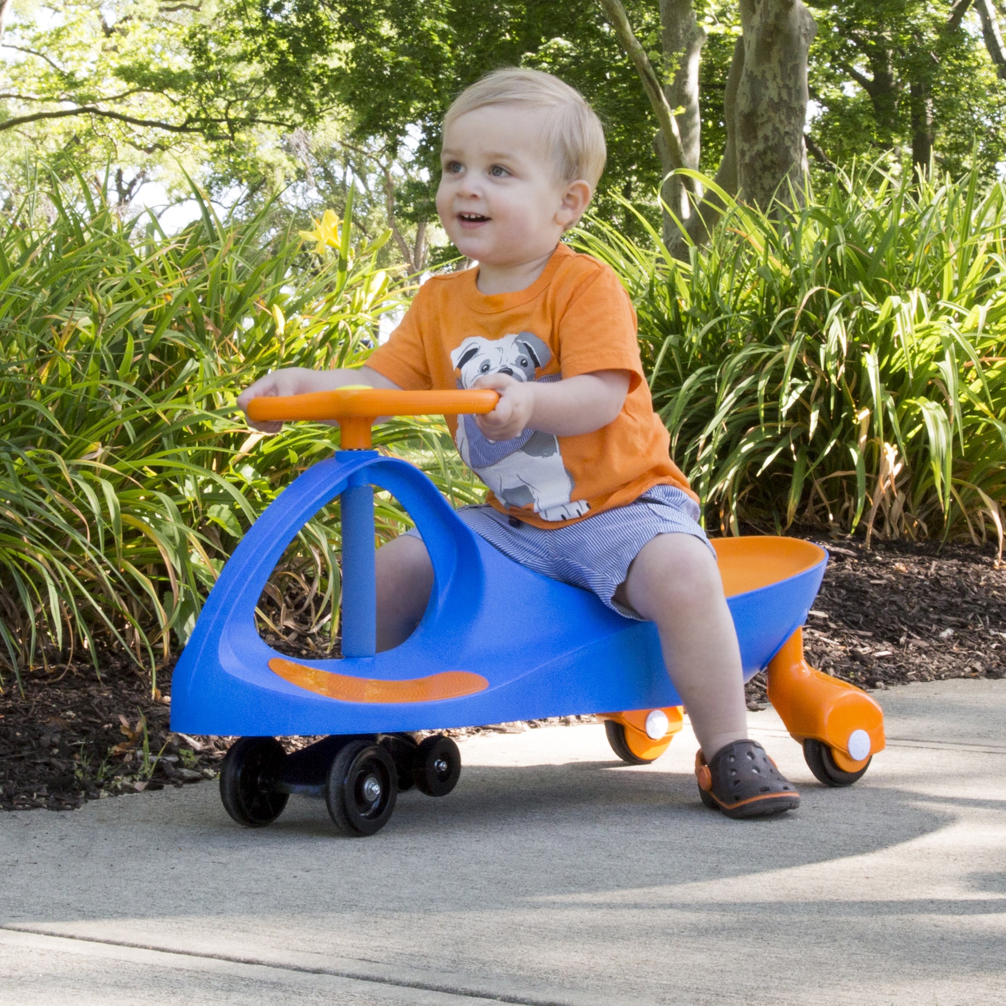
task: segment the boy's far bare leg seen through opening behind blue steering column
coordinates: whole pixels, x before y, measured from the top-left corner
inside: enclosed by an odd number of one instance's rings
[[[377,652],[404,643],[420,624],[434,585],[427,546],[402,534],[377,549]]]

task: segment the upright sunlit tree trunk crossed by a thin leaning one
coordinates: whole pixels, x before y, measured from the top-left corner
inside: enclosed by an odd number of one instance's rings
[[[675,113],[684,166],[698,169],[701,153],[701,119],[698,106],[698,67],[705,31],[695,20],[692,0],[660,0],[661,42],[664,53],[675,66],[674,78],[664,86],[667,104]],[[664,184],[661,198],[679,220],[693,212],[689,192],[701,197],[701,188],[689,187],[680,176],[668,177],[674,170],[663,131],[657,138]],[[677,226],[664,214],[664,242],[668,245],[679,236]]]

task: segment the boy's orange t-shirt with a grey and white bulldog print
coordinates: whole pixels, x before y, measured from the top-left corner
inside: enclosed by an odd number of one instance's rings
[[[471,387],[484,373],[539,381],[595,370],[632,375],[622,411],[590,434],[525,430],[496,443],[474,416],[449,416],[462,459],[491,490],[488,503],[547,528],[624,506],[660,483],[694,497],[671,461],[644,380],[636,314],[612,269],[559,244],[526,290],[488,296],[475,280],[474,269],[428,280],[366,365],[409,390]]]

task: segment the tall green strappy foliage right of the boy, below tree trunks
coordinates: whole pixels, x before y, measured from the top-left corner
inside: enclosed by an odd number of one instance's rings
[[[687,265],[598,224],[707,520],[984,538],[1006,506],[1006,187],[838,176]]]

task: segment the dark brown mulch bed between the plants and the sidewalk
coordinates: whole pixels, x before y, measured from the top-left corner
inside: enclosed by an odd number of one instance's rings
[[[846,539],[821,543],[831,560],[805,630],[815,667],[866,689],[1006,677],[1006,568],[995,567],[991,548],[874,542],[867,551]],[[267,638],[291,652],[321,648],[296,630],[283,641]],[[0,808],[69,810],[86,800],[216,777],[231,738],[170,731],[169,667],[158,672],[163,697],[151,697],[149,678],[121,653],[103,654],[99,663],[100,679],[90,663],[33,671],[23,676],[23,693],[6,676]],[[748,684],[747,699],[749,708],[765,705],[762,675]]]

